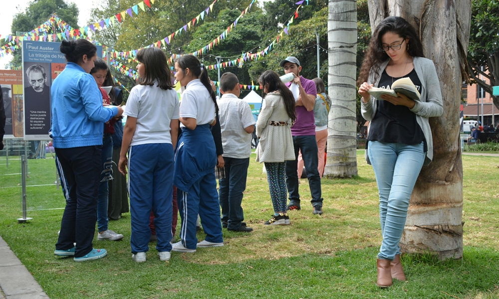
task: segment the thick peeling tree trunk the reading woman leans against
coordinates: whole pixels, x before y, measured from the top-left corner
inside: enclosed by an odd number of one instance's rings
[[[467,77],[470,0],[369,0],[374,30],[387,16],[415,26],[425,56],[435,62],[444,114],[431,118],[433,161],[423,167],[412,192],[400,241],[404,252],[431,252],[441,259],[463,256],[463,165],[459,134],[461,85]]]

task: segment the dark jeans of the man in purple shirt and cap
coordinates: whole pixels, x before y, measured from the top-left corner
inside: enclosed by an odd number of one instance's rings
[[[320,175],[317,170],[319,158],[317,156],[317,141],[314,135],[293,136],[294,160],[286,161],[286,186],[289,192],[289,202],[299,203],[298,193],[298,153],[301,150],[303,163],[307,170],[308,186],[312,195],[312,206],[322,206],[322,193],[320,188]]]

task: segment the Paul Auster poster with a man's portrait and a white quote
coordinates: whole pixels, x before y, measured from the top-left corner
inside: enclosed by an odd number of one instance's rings
[[[65,55],[59,47],[58,42],[22,42],[24,140],[49,139],[50,88],[66,65]],[[102,57],[102,46],[97,46],[97,55]]]

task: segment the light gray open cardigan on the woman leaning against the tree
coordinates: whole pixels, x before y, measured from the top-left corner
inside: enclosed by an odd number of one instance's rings
[[[374,72],[369,73],[369,78],[367,79],[368,84],[374,84],[374,87],[378,87],[381,74],[385,70],[390,59],[386,60],[381,64],[379,75],[375,77]],[[413,60],[414,69],[416,74],[421,80],[421,101],[416,101],[416,105],[412,112],[416,114],[416,121],[418,122],[423,134],[425,135],[426,144],[428,146],[428,151],[426,153],[426,158],[424,165],[430,164],[433,159],[433,139],[432,130],[430,128],[430,123],[428,118],[439,117],[444,113],[444,106],[442,104],[442,94],[440,91],[440,81],[437,76],[437,71],[435,69],[435,64],[433,61],[424,57],[414,57]],[[376,100],[371,97],[369,102],[361,102],[361,112],[362,116],[366,121],[371,121],[376,114],[377,103]],[[369,123],[369,126],[371,123]],[[366,150],[366,161],[371,164]]]

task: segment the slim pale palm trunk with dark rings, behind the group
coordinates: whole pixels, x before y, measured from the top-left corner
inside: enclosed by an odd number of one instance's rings
[[[356,55],[357,2],[329,0],[328,94],[329,110],[327,159],[324,175],[357,175]]]

